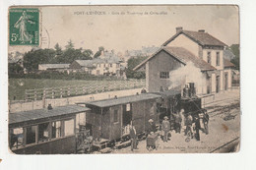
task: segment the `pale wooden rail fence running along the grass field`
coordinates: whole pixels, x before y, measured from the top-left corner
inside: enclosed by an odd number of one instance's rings
[[[42,100],[46,98],[63,98],[69,96],[93,94],[111,90],[131,89],[145,86],[145,80],[100,82],[87,85],[68,85],[58,87],[34,88],[25,90],[25,100]]]

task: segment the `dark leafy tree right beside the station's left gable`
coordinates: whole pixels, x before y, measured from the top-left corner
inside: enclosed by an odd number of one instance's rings
[[[127,61],[128,68],[126,70],[126,77],[132,78],[132,79],[145,79],[145,72],[135,72],[135,71],[133,71],[133,69],[146,59],[147,59],[147,57],[145,57],[145,56],[130,58]]]

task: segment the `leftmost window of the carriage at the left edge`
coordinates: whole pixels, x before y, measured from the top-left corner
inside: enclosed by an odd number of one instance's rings
[[[10,148],[19,148],[23,145],[24,136],[23,136],[23,128],[15,128],[10,130]]]

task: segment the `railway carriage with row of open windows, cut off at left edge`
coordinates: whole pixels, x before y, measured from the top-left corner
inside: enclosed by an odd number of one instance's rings
[[[76,116],[90,111],[77,105],[9,114],[9,146],[17,154],[76,152]]]

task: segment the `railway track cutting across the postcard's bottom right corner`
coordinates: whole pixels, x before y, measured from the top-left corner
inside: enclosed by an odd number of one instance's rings
[[[237,137],[230,142],[225,142],[223,145],[215,148],[214,150],[210,151],[210,153],[226,153],[226,152],[235,152],[239,150],[239,142],[240,137]]]

